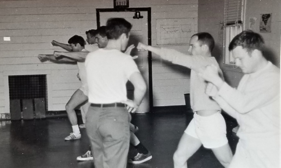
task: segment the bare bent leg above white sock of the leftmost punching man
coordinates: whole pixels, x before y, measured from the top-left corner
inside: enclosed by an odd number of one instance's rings
[[[82,90],[76,90],[69,101],[67,102],[65,109],[67,112],[68,119],[71,125],[77,125],[77,116],[74,109],[80,104],[88,100],[88,97],[82,92]]]

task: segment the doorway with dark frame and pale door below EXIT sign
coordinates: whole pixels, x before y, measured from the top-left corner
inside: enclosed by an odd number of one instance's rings
[[[106,21],[109,18],[124,18],[130,22],[133,27],[130,32],[129,43],[137,47],[138,43],[144,43],[151,45],[151,8],[126,8],[126,9],[96,9],[97,10],[97,27],[105,26]],[[135,12],[139,11],[143,18],[134,19]],[[135,62],[139,68],[140,73],[146,81],[148,91],[137,109],[136,113],[150,112],[153,107],[153,96],[152,96],[152,61],[151,52],[148,51],[137,51],[133,49],[131,52],[132,56],[137,55],[138,58]],[[134,87],[131,82],[127,83],[127,96],[129,99],[133,99]]]

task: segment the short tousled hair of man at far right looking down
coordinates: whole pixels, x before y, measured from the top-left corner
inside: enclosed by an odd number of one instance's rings
[[[249,53],[252,53],[255,49],[263,52],[264,40],[258,33],[252,30],[244,30],[231,40],[228,49],[232,51],[237,46],[242,46],[243,49],[246,48]]]

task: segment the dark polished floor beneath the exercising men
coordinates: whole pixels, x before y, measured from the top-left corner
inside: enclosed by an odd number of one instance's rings
[[[173,152],[192,117],[192,113],[133,114],[132,123],[139,127],[136,135],[150,150],[152,159],[142,164],[128,164],[127,167],[172,168]],[[236,122],[228,116],[225,119],[229,144],[235,149],[238,138],[231,129]],[[76,157],[89,148],[86,131],[82,130],[79,140],[65,141],[70,132],[67,117],[0,121],[0,167],[93,168],[93,161],[76,161]],[[133,154],[131,150],[129,156]],[[188,160],[188,167],[223,168],[212,151],[203,147]]]

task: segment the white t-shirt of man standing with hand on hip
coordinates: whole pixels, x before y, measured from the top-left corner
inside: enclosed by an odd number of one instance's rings
[[[126,83],[139,72],[130,55],[116,49],[99,49],[85,60],[90,103],[115,103],[127,100]]]

